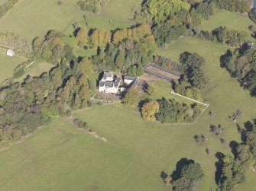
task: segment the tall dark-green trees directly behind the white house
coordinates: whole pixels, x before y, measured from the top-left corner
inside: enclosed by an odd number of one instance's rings
[[[98,71],[118,71],[128,75],[137,75],[137,67],[141,62],[152,61],[151,46],[147,40],[143,43],[133,40],[122,40],[121,43],[110,43],[105,51],[101,49],[92,56],[92,63]]]

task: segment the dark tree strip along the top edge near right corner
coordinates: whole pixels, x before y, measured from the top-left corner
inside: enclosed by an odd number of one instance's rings
[[[247,0],[213,0],[212,2],[215,3],[217,8],[228,11],[245,13],[251,9],[251,1]]]

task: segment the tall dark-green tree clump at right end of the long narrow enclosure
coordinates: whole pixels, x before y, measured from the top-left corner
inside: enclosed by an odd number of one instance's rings
[[[193,88],[203,89],[206,87],[207,80],[203,71],[204,59],[197,53],[180,54],[180,62],[183,63],[186,76]]]

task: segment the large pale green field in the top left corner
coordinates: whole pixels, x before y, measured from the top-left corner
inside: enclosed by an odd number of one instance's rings
[[[22,0],[0,20],[1,30],[10,30],[32,40],[44,36],[48,30],[63,31],[76,21],[83,20],[84,13],[76,1],[62,2],[63,5],[57,5],[57,1],[52,0]]]

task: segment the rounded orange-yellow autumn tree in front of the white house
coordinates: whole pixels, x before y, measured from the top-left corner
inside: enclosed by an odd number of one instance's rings
[[[159,112],[159,103],[157,101],[144,103],[141,108],[142,119],[154,121],[156,119],[155,113],[157,112]]]

